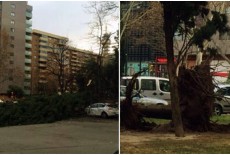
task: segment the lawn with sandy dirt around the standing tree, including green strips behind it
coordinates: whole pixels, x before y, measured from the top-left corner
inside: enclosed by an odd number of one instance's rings
[[[166,124],[170,120],[145,118],[148,122]],[[229,124],[230,115],[213,116],[218,124]],[[189,132],[175,137],[173,132],[138,132],[121,130],[121,153],[125,154],[226,154],[230,153],[230,133]]]

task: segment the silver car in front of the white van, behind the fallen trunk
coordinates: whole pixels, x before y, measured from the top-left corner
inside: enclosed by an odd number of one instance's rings
[[[120,101],[125,100],[126,86],[120,87]],[[142,95],[140,92],[133,90],[132,95],[133,104],[140,104],[143,106],[151,106],[151,105],[169,105],[166,100],[153,98],[153,97],[146,97]]]

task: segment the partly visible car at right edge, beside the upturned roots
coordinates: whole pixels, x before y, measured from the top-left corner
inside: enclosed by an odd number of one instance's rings
[[[218,87],[214,89],[214,92],[216,95],[214,113],[216,115],[230,113],[230,85],[218,85]]]

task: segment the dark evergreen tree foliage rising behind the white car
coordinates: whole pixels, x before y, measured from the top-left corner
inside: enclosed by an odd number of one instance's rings
[[[78,91],[88,94],[86,98],[91,101],[118,100],[118,49],[114,51],[115,59],[110,63],[99,67],[96,61],[90,60],[75,76]]]

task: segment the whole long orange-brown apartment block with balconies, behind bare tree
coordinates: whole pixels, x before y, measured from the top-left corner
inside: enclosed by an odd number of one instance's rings
[[[50,63],[55,63],[55,58],[52,57],[55,52],[53,48],[54,41],[59,45],[63,45],[64,51],[63,60],[65,61],[65,77],[71,78],[68,88],[76,87],[73,75],[82,67],[82,65],[91,58],[96,58],[96,54],[90,51],[77,49],[68,45],[68,38],[51,34],[48,32],[33,30],[32,32],[32,94],[45,92],[57,92],[57,79],[50,72]],[[53,43],[52,43],[53,42]],[[53,46],[53,47],[52,47]],[[57,48],[57,47],[56,47]],[[61,51],[59,51],[61,52]],[[52,62],[51,62],[52,61]],[[53,67],[58,70],[58,66]],[[56,71],[57,71],[56,70]],[[53,70],[54,71],[54,70]]]

